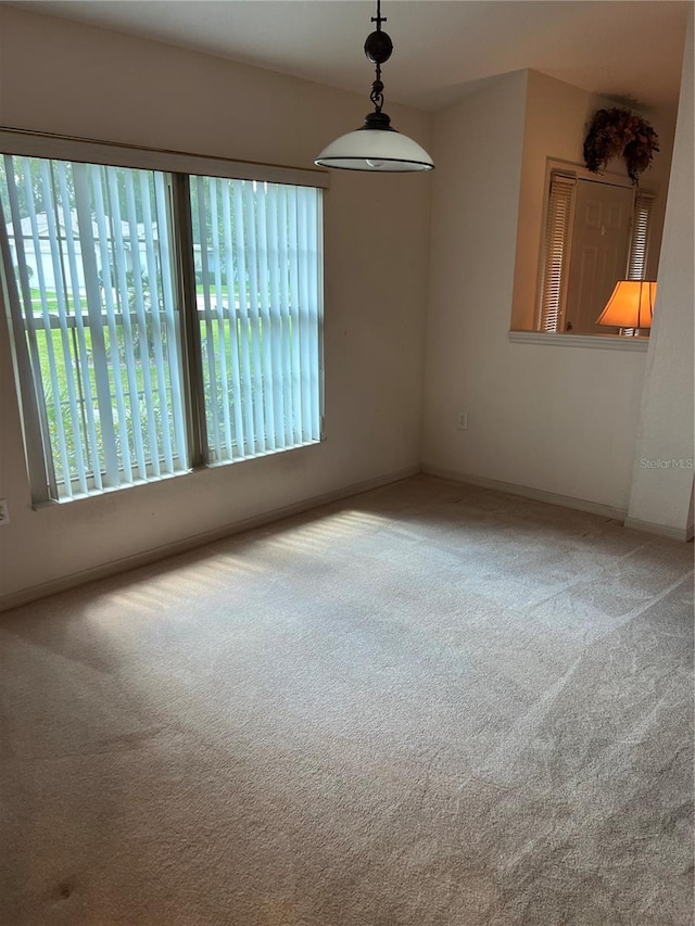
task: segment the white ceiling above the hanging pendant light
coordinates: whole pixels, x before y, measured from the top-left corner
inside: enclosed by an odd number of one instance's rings
[[[365,0],[13,0],[31,12],[157,39],[368,94]],[[688,2],[383,0],[389,99],[435,110],[475,81],[533,67],[648,107],[674,106]],[[386,106],[388,110],[388,105]]]

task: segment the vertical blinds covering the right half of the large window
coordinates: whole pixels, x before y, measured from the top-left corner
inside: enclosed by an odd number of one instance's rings
[[[191,178],[207,454],[320,439],[320,190]]]

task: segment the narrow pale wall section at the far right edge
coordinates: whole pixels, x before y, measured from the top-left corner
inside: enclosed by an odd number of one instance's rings
[[[628,523],[693,534],[693,12]],[[680,465],[679,465],[680,464]]]

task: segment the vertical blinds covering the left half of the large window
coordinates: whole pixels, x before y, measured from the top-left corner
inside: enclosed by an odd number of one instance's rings
[[[166,176],[4,155],[52,494],[186,468]]]

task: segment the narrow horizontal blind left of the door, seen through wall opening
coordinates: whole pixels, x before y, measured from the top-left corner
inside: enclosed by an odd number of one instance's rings
[[[541,331],[559,331],[561,325],[576,183],[572,177],[551,175],[543,252]]]

